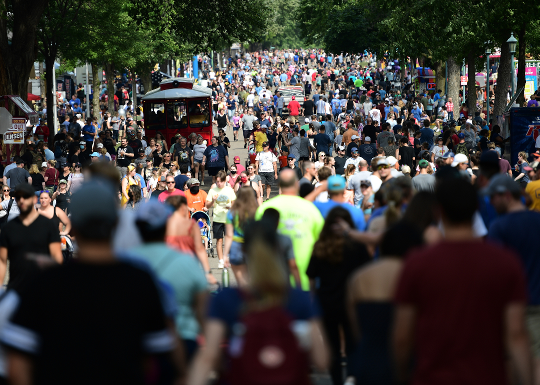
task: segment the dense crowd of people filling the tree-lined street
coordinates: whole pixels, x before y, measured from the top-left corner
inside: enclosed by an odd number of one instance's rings
[[[389,59],[265,56],[208,73],[211,143],[90,121],[5,168],[0,383],[540,384],[540,154],[512,168]],[[214,247],[236,285],[210,292]]]

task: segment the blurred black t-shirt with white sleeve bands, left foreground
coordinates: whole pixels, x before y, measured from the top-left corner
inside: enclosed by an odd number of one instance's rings
[[[156,285],[125,262],[51,267],[19,295],[3,342],[32,356],[34,383],[143,385],[144,357],[172,350]]]

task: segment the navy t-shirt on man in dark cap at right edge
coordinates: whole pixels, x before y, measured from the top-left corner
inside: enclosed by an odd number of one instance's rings
[[[540,248],[534,242],[540,226],[540,213],[518,211],[491,222],[488,238],[514,249],[523,262],[527,276],[530,305],[540,305]]]

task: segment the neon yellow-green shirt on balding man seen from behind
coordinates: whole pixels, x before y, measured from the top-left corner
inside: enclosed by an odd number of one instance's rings
[[[278,195],[264,202],[257,209],[255,219],[259,220],[267,208],[275,208],[279,212],[278,233],[291,238],[302,289],[309,291],[306,271],[313,245],[325,224],[324,218],[312,202],[292,195]]]

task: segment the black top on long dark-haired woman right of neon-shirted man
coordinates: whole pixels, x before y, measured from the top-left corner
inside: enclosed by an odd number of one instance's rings
[[[325,310],[334,310],[335,316],[345,313],[345,290],[348,278],[357,268],[370,262],[366,246],[360,242],[347,241],[343,245],[341,262],[332,263],[316,256],[311,257],[306,274],[319,278],[317,296]]]

